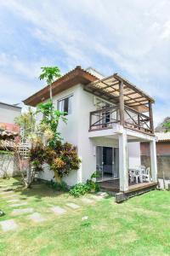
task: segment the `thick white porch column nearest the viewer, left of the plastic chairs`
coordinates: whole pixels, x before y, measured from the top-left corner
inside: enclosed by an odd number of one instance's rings
[[[119,135],[119,178],[120,190],[128,190],[128,171],[127,171],[127,134],[125,131]]]

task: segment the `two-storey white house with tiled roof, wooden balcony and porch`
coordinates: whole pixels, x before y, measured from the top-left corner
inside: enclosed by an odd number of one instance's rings
[[[152,103],[154,100],[118,74],[104,78],[94,69],[76,67],[52,85],[54,105],[68,113],[67,125],[59,124],[65,141],[77,146],[82,159],[78,171],[72,171],[68,185],[86,182],[91,174],[101,173],[99,182],[109,189],[131,192],[128,169],[140,165],[140,142],[150,142],[151,182],[139,183],[141,189],[156,186],[156,137]],[[27,98],[26,105],[36,107],[49,98],[48,86]],[[46,170],[43,179],[54,174]]]

